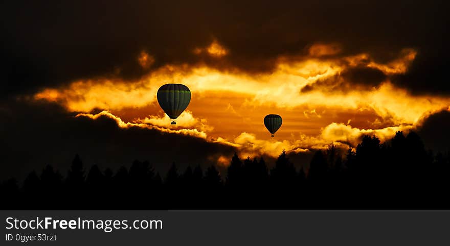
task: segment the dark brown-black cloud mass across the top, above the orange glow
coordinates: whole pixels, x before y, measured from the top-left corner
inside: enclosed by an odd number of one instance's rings
[[[97,76],[136,79],[142,50],[167,63],[270,71],[278,56],[302,56],[316,42],[392,60],[405,47],[418,60],[395,82],[445,93],[447,5],[442,1],[3,1],[1,95]],[[228,56],[192,51],[217,39]],[[432,73],[430,73],[432,72]]]

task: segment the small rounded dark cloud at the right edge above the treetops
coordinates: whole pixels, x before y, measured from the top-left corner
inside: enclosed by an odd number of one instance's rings
[[[432,114],[424,119],[418,134],[423,143],[433,151],[450,151],[450,112],[447,110]]]

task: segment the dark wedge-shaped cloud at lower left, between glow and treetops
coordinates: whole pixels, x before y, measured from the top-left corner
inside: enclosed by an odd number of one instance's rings
[[[220,155],[231,157],[235,152],[233,147],[201,138],[138,127],[122,129],[108,117],[75,117],[55,104],[2,106],[0,118],[0,180],[23,178],[46,164],[65,175],[75,154],[87,167],[98,164],[116,169],[138,159],[150,161],[165,174],[173,161],[182,170],[187,165],[206,167]]]

